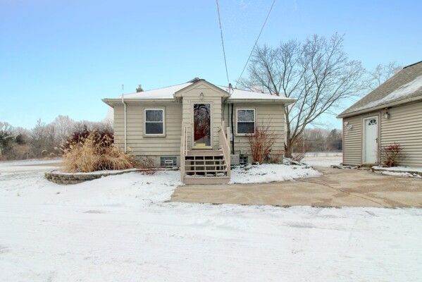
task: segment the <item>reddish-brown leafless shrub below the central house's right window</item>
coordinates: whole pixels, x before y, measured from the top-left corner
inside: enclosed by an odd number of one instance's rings
[[[251,149],[252,161],[262,164],[271,153],[277,135],[270,130],[269,125],[257,125],[255,134],[247,135]]]

